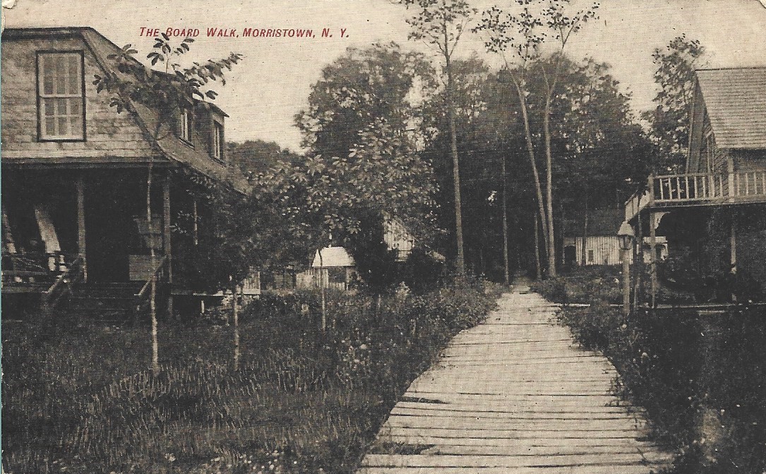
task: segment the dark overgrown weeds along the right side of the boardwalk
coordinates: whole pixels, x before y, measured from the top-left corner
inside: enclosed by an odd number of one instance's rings
[[[565,307],[561,322],[617,367],[616,393],[644,407],[653,439],[679,455],[673,474],[766,470],[766,311],[643,309],[624,318],[608,290],[586,294],[590,306]],[[701,430],[705,416],[720,430]]]

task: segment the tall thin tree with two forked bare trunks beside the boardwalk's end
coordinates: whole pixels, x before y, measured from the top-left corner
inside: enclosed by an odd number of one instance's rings
[[[514,15],[504,12],[500,8],[493,7],[484,12],[481,24],[476,31],[486,31],[489,38],[486,48],[490,52],[498,53],[506,58],[506,66],[512,72],[511,77],[521,103],[522,116],[524,117],[525,134],[527,137],[527,150],[532,163],[535,176],[535,190],[538,193],[538,207],[542,223],[543,234],[548,246],[548,275],[556,275],[555,232],[553,219],[553,159],[551,148],[550,117],[552,112],[552,98],[558,86],[561,75],[561,65],[564,60],[564,52],[571,35],[578,32],[584,23],[591,18],[596,18],[598,4],[594,3],[591,8],[568,12],[571,0],[516,0],[520,5],[521,12]],[[529,5],[535,4],[533,11]],[[545,31],[540,31],[540,28]],[[542,113],[542,133],[545,143],[545,199],[542,198],[542,189],[539,183],[537,165],[535,162],[535,150],[532,143],[532,132],[529,127],[528,104],[526,94],[527,68],[529,62],[539,58],[541,46],[549,35],[555,40],[555,50],[550,55],[550,66],[542,67],[539,72],[545,82],[545,101]],[[512,52],[516,57],[517,64],[511,67],[506,56],[506,51]],[[545,204],[543,204],[545,202]]]

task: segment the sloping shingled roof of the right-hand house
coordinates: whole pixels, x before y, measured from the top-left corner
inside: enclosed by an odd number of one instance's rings
[[[698,69],[720,148],[766,149],[766,67]]]

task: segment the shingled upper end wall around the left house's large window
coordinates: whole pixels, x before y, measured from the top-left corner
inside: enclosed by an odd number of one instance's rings
[[[36,51],[83,51],[86,92],[86,140],[38,141]],[[151,148],[133,118],[109,107],[109,95],[98,94],[93,75],[103,74],[81,38],[24,39],[2,44],[2,159],[4,162],[148,156]]]

